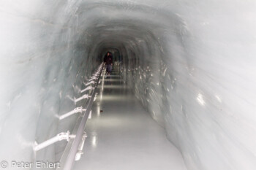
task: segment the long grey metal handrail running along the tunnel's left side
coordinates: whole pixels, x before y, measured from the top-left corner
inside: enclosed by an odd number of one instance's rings
[[[78,152],[78,147],[80,145],[81,140],[83,139],[84,129],[86,128],[86,122],[91,112],[91,107],[94,102],[94,96],[97,90],[97,85],[99,83],[99,78],[102,74],[104,63],[99,66],[99,77],[97,78],[97,83],[95,83],[94,90],[91,93],[91,98],[89,100],[89,104],[86,107],[86,112],[82,117],[78,119],[78,122],[75,125],[72,134],[75,135],[75,139],[70,139],[67,147],[64,150],[64,153],[61,157],[60,166],[57,168],[58,170],[71,170],[72,166],[75,162],[75,155]]]

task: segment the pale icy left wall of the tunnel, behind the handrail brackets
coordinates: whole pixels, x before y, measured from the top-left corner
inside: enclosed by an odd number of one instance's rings
[[[72,2],[1,1],[0,159],[55,161],[65,142],[33,152],[61,131],[72,131],[76,116],[59,115],[76,106],[86,77],[99,62],[78,30]],[[82,36],[81,36],[82,34]]]

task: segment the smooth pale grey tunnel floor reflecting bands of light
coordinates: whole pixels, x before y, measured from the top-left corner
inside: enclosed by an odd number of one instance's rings
[[[102,111],[101,111],[102,110]],[[181,153],[117,72],[102,77],[75,170],[185,170]]]

